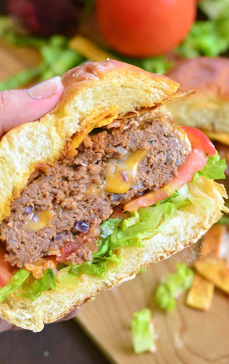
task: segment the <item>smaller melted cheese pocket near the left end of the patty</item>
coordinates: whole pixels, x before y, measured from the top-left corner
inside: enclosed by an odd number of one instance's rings
[[[52,211],[41,211],[39,213],[33,213],[30,219],[26,222],[26,230],[30,232],[36,232],[44,229],[50,225],[53,221],[55,214]]]

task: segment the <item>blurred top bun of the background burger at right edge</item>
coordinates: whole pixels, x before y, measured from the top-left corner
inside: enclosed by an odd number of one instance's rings
[[[195,95],[168,107],[179,125],[229,133],[229,59],[197,57],[178,61],[166,76],[180,83],[179,91]]]

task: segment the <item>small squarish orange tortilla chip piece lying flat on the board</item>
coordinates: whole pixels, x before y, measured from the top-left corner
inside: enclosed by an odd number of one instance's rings
[[[214,284],[196,273],[185,303],[189,307],[207,311],[212,304],[213,293]]]

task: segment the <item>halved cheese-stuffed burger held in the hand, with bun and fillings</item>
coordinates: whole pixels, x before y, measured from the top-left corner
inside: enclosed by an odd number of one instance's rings
[[[0,143],[0,314],[33,331],[196,242],[226,210],[212,143],[160,111],[187,95],[177,82],[113,60],[62,81],[57,106]]]

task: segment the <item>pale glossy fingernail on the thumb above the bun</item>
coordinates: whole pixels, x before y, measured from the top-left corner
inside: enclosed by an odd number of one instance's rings
[[[47,97],[56,94],[60,90],[60,85],[60,76],[55,76],[28,88],[28,94],[35,100],[46,99]]]

